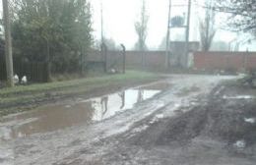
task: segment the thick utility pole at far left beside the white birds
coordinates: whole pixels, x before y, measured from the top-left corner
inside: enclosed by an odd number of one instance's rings
[[[4,29],[5,29],[5,61],[7,72],[7,85],[9,87],[14,86],[14,70],[13,70],[13,52],[12,52],[12,38],[11,38],[11,26],[9,18],[9,6],[8,0],[2,0],[3,2],[3,14],[4,14]]]

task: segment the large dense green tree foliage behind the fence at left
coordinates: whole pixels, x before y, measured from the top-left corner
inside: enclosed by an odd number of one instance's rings
[[[77,71],[92,46],[87,0],[13,0],[12,35],[16,58],[47,61],[56,72]]]

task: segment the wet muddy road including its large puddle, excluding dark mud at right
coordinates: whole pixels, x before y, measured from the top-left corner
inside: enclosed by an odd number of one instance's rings
[[[199,135],[210,93],[233,79],[168,76],[4,117],[0,164],[255,164],[253,158],[229,155],[224,140]],[[231,142],[244,143],[243,138]]]

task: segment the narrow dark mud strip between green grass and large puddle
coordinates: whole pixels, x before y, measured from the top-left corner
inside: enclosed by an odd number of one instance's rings
[[[164,77],[160,77],[161,80],[164,79]],[[14,101],[9,103],[1,103],[0,104],[0,116],[6,116],[7,114],[15,114],[18,112],[24,112],[24,111],[30,111],[37,107],[44,106],[46,104],[53,104],[53,103],[63,103],[64,101],[69,101],[73,98],[76,98],[78,96],[83,97],[84,99],[90,99],[92,97],[100,97],[102,95],[109,94],[111,92],[116,92],[118,90],[123,90],[125,88],[137,86],[143,83],[154,83],[158,80],[156,78],[150,79],[150,80],[143,80],[143,81],[137,81],[137,80],[127,80],[126,83],[120,83],[120,84],[109,84],[108,86],[103,87],[96,87],[93,88],[90,91],[82,92],[82,93],[61,93],[59,91],[41,91],[42,97],[34,97],[29,100],[22,100],[22,101]],[[60,89],[61,90],[61,89]],[[12,93],[15,95],[21,95],[22,94],[33,94],[32,92],[28,93]],[[8,96],[8,95],[5,95]]]

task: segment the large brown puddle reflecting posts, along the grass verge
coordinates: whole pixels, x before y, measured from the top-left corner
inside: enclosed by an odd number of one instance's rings
[[[47,105],[31,112],[9,116],[0,121],[0,138],[24,138],[36,133],[99,122],[154,97],[169,85],[155,83],[92,99],[77,98],[68,103]]]

